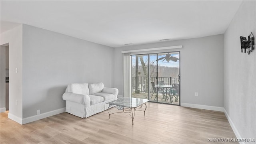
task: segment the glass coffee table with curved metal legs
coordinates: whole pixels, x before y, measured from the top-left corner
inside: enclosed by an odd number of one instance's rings
[[[108,119],[110,119],[111,114],[124,112],[124,113],[128,113],[131,116],[132,124],[133,124],[135,111],[143,111],[144,115],[145,115],[145,111],[147,109],[146,102],[148,102],[147,99],[139,99],[139,98],[118,98],[115,101],[107,102],[107,104],[109,104],[109,107],[108,107],[109,118]],[[143,105],[145,105],[145,109],[138,110],[138,108],[142,108]],[[112,107],[116,107],[118,110],[122,110],[122,111],[110,113],[109,108],[112,108]]]

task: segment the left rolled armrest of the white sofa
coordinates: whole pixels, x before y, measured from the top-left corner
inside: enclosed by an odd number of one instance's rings
[[[64,93],[62,99],[65,101],[72,101],[75,103],[80,103],[86,107],[90,106],[90,97],[88,95],[81,95],[77,93]]]

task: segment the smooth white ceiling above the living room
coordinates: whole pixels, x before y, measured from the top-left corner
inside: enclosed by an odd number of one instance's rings
[[[110,47],[223,34],[241,1],[3,1],[1,32],[28,24]]]

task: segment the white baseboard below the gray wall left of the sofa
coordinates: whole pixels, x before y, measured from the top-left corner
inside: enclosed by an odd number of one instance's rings
[[[23,118],[22,119],[22,124],[26,124],[26,123],[29,123],[29,122],[34,122],[36,120],[40,120],[40,119],[43,119],[43,118],[47,118],[49,116],[60,114],[62,112],[65,112],[65,110],[66,110],[66,108],[60,108],[60,109],[57,109],[57,110],[52,110],[50,112],[45,112],[45,113],[42,113],[42,114],[38,114],[38,115],[30,116],[30,117],[27,117],[27,118]]]

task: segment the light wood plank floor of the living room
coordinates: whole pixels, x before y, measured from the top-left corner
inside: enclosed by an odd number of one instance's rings
[[[85,119],[64,112],[24,125],[1,113],[0,143],[208,144],[208,138],[236,138],[223,112],[157,103],[147,106],[145,116],[135,113],[134,125],[129,114],[112,114],[108,119],[107,111]]]

